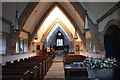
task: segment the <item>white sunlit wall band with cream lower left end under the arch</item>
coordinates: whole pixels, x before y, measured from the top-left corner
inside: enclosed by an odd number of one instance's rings
[[[38,30],[38,42],[41,40],[42,35],[46,30],[49,28],[49,26],[56,20],[59,19],[62,21],[62,23],[68,27],[69,31],[72,32],[74,35],[75,29],[73,25],[70,23],[70,21],[67,19],[67,17],[62,13],[62,11],[58,8],[55,7],[53,11],[49,14],[49,16],[46,18],[46,20],[43,22],[41,25],[40,29]],[[54,30],[53,30],[54,31]]]

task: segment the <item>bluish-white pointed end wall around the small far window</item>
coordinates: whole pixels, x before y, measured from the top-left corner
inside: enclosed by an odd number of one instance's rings
[[[57,47],[57,33],[60,32],[63,36],[63,43],[61,43],[61,47],[64,48],[66,51],[73,51],[73,43],[72,38],[70,38],[70,34],[67,33],[64,28],[59,24],[56,23],[56,25],[52,28],[52,30],[49,32],[49,34],[46,37],[46,47],[52,46],[56,49]],[[63,49],[62,49],[63,50]]]

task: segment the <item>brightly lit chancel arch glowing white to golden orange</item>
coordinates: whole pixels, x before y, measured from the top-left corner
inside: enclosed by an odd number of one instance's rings
[[[57,15],[55,15],[56,12],[58,12]],[[59,16],[59,15],[61,15],[61,16]],[[69,21],[69,19],[66,17],[66,15],[59,9],[58,6],[56,6],[56,7],[54,7],[53,11],[51,11],[51,13],[48,15],[48,17],[43,22],[43,24],[40,25],[40,29],[37,32],[37,34],[38,34],[37,43],[40,43],[41,46],[44,45],[44,43],[42,42],[42,39],[44,39],[45,40],[44,42],[46,42],[47,35],[53,29],[53,27],[55,26],[56,23],[59,23],[62,26],[62,28],[65,30],[65,32],[67,32],[71,41],[73,40],[73,36],[75,34],[74,27],[76,27],[76,26],[72,25],[72,23]],[[79,29],[79,28],[77,28],[77,29]],[[80,36],[79,32],[77,34],[81,41],[81,36]]]

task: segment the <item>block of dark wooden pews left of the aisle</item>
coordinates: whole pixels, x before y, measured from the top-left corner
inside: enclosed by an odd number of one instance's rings
[[[43,80],[53,63],[53,58],[54,56],[34,56],[15,60],[14,63],[8,62],[3,66],[2,80]]]

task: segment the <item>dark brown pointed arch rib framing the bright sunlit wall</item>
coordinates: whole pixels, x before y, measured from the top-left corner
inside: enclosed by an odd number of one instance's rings
[[[42,25],[42,23],[44,22],[44,20],[48,17],[48,15],[50,14],[50,12],[54,9],[54,7],[59,7],[60,10],[65,14],[65,16],[68,18],[68,20],[71,22],[71,24],[74,26],[74,28],[77,28],[78,25],[76,24],[76,22],[74,21],[73,17],[66,11],[66,9],[64,9],[64,7],[62,5],[60,5],[58,2],[53,3],[49,9],[44,13],[44,15],[41,17],[41,19],[38,21],[37,25],[35,26],[34,31],[32,32],[32,34],[29,35],[29,47],[31,42],[33,41],[33,36],[35,34],[36,31],[39,30],[40,26]],[[82,42],[85,44],[85,35],[84,33],[82,33],[82,31],[80,29],[78,29],[78,33],[81,37]]]

